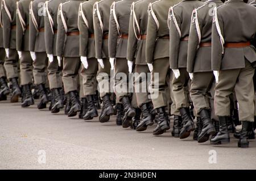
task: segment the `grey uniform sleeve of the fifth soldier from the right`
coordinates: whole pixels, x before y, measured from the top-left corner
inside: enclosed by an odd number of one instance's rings
[[[134,14],[131,13],[130,23],[129,23],[129,37],[128,37],[128,44],[127,44],[127,60],[129,61],[134,60],[136,49],[137,49],[137,37],[135,36],[134,27],[133,27],[134,26],[133,16]]]

